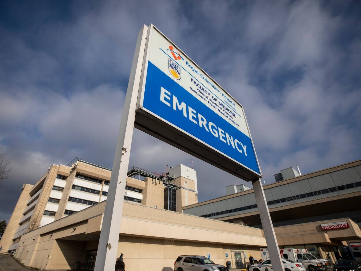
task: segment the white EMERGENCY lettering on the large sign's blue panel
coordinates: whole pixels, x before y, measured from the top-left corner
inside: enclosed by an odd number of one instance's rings
[[[238,139],[233,138],[232,135],[225,132],[222,128],[214,124],[212,121],[207,121],[204,116],[202,116],[199,112],[196,112],[190,106],[187,106],[186,103],[184,103],[183,101],[179,103],[178,98],[172,95],[168,90],[164,89],[163,87],[161,87],[160,90],[160,100],[162,103],[173,108],[175,111],[182,111],[184,117],[188,118],[193,123],[199,125],[201,128],[204,128],[207,132],[211,133],[214,137],[219,138],[221,141],[231,146],[233,149],[236,149],[240,153],[247,156],[246,145],[244,145]]]

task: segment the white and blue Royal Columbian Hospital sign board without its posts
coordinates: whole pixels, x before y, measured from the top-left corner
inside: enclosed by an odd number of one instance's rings
[[[175,145],[189,152],[198,147],[195,154],[203,152],[202,159],[236,176],[261,177],[242,106],[153,28],[146,55],[138,108],[159,121],[143,113],[149,121],[141,119],[137,124],[173,143],[179,136],[185,138]],[[151,121],[160,124],[158,130]],[[168,137],[165,124],[176,129],[169,129],[173,134]],[[197,146],[184,146],[189,142]]]

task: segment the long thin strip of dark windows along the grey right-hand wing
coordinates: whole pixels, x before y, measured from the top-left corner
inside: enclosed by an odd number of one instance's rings
[[[313,196],[316,196],[316,195],[327,194],[327,193],[336,192],[336,191],[345,190],[345,189],[350,189],[350,188],[355,188],[355,187],[359,187],[359,186],[361,186],[361,182],[353,182],[352,184],[340,185],[340,186],[331,187],[331,188],[322,189],[322,190],[317,190],[317,191],[314,191],[314,192],[304,193],[304,194],[300,194],[300,195],[296,195],[296,196],[292,196],[292,197],[275,199],[274,201],[268,201],[267,205],[273,205],[273,204],[277,204],[277,203],[281,203],[281,202],[293,201],[293,200],[296,200],[296,199],[302,199],[302,198],[307,198],[307,197],[313,197]],[[207,215],[201,215],[201,217],[208,218],[210,216],[230,214],[232,212],[239,212],[239,211],[249,210],[249,209],[253,209],[253,208],[257,208],[257,204],[248,205],[248,206],[244,206],[244,207],[240,207],[240,208],[234,208],[234,209],[221,211],[221,212],[214,212],[212,214],[207,214]]]

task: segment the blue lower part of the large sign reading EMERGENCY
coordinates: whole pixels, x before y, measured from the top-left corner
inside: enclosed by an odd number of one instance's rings
[[[148,62],[143,107],[260,173],[251,139]]]

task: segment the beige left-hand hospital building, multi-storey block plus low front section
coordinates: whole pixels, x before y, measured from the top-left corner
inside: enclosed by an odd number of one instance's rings
[[[0,245],[26,266],[93,270],[110,170],[83,160],[51,165],[23,186]],[[131,167],[117,254],[127,270],[173,270],[179,255],[208,255],[246,267],[266,245],[261,229],[182,214],[197,202],[196,171],[182,164],[164,173]],[[115,259],[114,259],[115,261]]]

